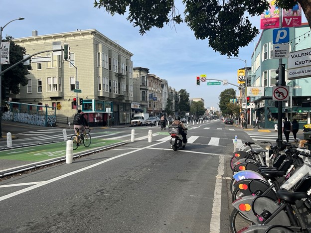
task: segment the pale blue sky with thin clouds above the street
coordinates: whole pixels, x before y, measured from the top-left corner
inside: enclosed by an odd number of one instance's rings
[[[2,37],[27,37],[33,30],[37,30],[38,35],[45,35],[94,28],[132,52],[134,67],[149,68],[151,74],[166,79],[169,86],[176,90],[185,89],[190,98],[203,98],[206,108],[218,108],[220,93],[227,88],[237,88],[222,84],[207,86],[206,83],[197,86],[196,76],[206,74],[207,79],[226,79],[237,84],[237,70],[245,67],[244,60],[247,60],[247,66],[251,66],[251,55],[259,38],[240,49],[238,58],[243,61],[227,60],[227,56],[208,47],[208,40],[196,40],[184,23],[175,25],[175,28],[168,25],[153,28],[141,36],[139,28],[133,27],[126,16],[111,16],[103,9],[94,8],[94,0],[2,1],[1,26],[12,19],[25,18],[8,24]],[[176,1],[176,7],[182,14],[181,0]],[[259,28],[259,17],[253,17],[251,21]]]

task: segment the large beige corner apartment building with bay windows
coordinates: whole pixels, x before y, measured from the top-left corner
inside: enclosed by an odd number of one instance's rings
[[[12,102],[55,107],[61,121],[67,117],[72,120],[77,109],[82,109],[91,126],[131,121],[133,53],[117,42],[95,29],[48,35],[33,31],[32,36],[14,42],[29,55],[46,51],[35,57],[50,60],[31,63],[28,85],[20,87],[18,95],[10,94]],[[64,43],[70,46],[70,61],[64,61],[62,53],[52,51],[53,44]]]

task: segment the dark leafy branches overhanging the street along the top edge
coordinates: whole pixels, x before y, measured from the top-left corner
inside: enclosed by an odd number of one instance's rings
[[[267,0],[182,0],[184,18],[176,9],[174,0],[95,0],[94,7],[108,13],[124,15],[134,27],[145,34],[152,27],[185,22],[196,39],[208,39],[209,46],[222,55],[238,56],[239,47],[247,46],[259,30],[249,16],[260,15],[269,8]],[[279,0],[279,6],[290,9],[299,2],[311,26],[311,0]]]

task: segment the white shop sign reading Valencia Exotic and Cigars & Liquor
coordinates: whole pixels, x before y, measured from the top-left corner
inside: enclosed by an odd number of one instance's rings
[[[311,48],[290,53],[288,58],[288,79],[311,76]]]

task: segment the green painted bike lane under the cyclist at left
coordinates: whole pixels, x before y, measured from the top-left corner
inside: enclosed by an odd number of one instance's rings
[[[92,143],[89,147],[85,147],[82,144],[76,150],[73,151],[73,155],[124,141],[125,140],[92,138]],[[20,160],[20,161],[39,162],[47,159],[59,158],[66,156],[66,145],[67,142],[62,141],[29,147],[12,148],[1,151],[0,160]]]

